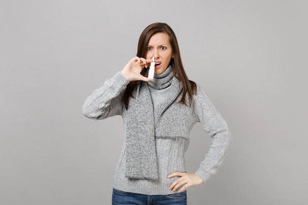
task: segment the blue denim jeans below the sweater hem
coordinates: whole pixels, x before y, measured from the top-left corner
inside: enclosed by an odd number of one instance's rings
[[[113,189],[112,205],[187,205],[186,191],[170,195],[143,195]]]

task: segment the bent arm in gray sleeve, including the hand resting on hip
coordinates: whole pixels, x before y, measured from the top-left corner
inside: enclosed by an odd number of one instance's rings
[[[173,191],[176,191],[180,186],[184,185],[179,190],[179,192],[182,192],[189,186],[204,183],[210,176],[215,174],[231,143],[231,135],[226,122],[217,112],[208,96],[199,87],[195,96],[193,109],[196,121],[201,122],[204,130],[210,137],[213,137],[213,141],[208,154],[206,154],[204,161],[201,162],[195,174],[177,172],[168,176],[179,176],[169,187]]]

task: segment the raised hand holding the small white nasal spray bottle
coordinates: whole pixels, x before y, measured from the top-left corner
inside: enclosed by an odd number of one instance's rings
[[[128,61],[121,73],[128,81],[153,81],[153,79],[144,77],[140,74],[142,69],[144,67],[147,68],[151,62],[152,59],[134,57]]]

